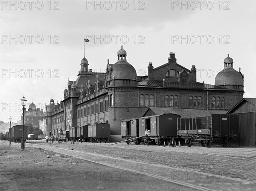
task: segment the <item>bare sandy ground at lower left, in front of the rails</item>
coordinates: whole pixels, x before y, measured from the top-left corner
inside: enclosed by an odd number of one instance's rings
[[[122,171],[43,149],[1,142],[0,191],[187,190],[143,174]]]

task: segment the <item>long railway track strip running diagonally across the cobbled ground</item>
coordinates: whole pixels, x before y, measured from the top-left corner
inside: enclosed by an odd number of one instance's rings
[[[32,145],[43,148],[44,150],[52,151],[55,153],[72,156],[78,159],[94,162],[100,165],[109,166],[112,168],[118,168],[124,171],[131,171],[135,173],[143,173],[145,176],[162,179],[167,182],[171,182],[177,185],[185,186],[195,190],[214,191],[221,190],[223,188],[222,183],[234,184],[235,187],[231,187],[230,190],[241,190],[244,185],[254,185],[255,182],[235,179],[220,174],[210,174],[193,169],[174,168],[166,165],[149,164],[145,162],[132,161],[129,159],[122,159],[118,157],[102,156],[99,154],[87,153],[79,150],[70,150],[67,148],[56,148],[47,145]],[[74,146],[74,145],[72,145]],[[104,162],[102,162],[104,161]],[[181,178],[180,177],[186,177]],[[194,177],[193,177],[194,176]],[[195,178],[196,176],[196,178]],[[190,179],[189,179],[190,178]],[[188,183],[192,182],[192,183]],[[214,186],[212,185],[214,182]],[[242,187],[238,186],[238,182]],[[214,189],[215,187],[215,189]],[[227,190],[227,188],[225,188]]]

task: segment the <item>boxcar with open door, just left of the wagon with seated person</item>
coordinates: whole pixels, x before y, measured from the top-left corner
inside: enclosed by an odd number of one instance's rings
[[[122,136],[122,139],[133,139],[138,137],[139,136],[139,118],[122,120],[121,136]],[[135,142],[136,145],[139,145],[140,139],[137,138],[137,139],[126,141],[128,145],[131,142]]]

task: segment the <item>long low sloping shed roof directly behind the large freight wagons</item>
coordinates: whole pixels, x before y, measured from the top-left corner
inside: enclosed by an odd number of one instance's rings
[[[180,115],[181,117],[204,117],[210,116],[212,114],[225,114],[227,110],[195,110],[195,109],[180,109],[180,108],[160,108],[160,107],[150,107],[155,115],[161,115],[164,113],[174,113]],[[145,112],[145,114],[148,112]],[[145,114],[143,116],[145,116]]]

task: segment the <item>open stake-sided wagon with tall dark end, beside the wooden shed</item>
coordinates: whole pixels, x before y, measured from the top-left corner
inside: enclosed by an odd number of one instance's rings
[[[177,123],[177,136],[183,138],[188,147],[201,142],[203,147],[221,145],[238,136],[237,114],[212,114],[197,118],[180,118]],[[214,143],[214,144],[213,144]]]

